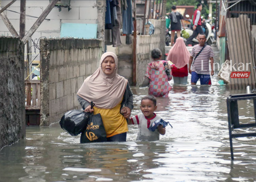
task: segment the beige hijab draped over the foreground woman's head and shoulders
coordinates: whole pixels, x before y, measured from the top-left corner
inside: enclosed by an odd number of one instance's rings
[[[102,71],[102,61],[111,56],[115,61],[115,70],[111,75]],[[124,96],[128,80],[116,74],[118,68],[117,56],[112,52],[102,54],[100,67],[84,80],[77,94],[87,102],[93,101],[97,108],[111,109],[119,104]]]

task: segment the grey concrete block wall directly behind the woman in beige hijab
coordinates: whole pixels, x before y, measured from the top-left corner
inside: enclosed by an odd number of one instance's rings
[[[102,40],[41,39],[41,121],[49,126],[68,110],[80,109],[76,93],[99,67]]]

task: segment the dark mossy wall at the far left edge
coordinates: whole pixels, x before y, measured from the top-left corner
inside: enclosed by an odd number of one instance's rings
[[[25,137],[24,45],[0,36],[0,149]]]

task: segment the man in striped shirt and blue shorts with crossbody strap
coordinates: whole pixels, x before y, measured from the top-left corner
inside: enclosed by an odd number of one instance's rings
[[[213,50],[210,45],[205,45],[206,36],[204,34],[199,35],[198,41],[199,44],[194,45],[192,48],[188,63],[188,71],[191,74],[191,85],[196,85],[198,79],[200,79],[201,85],[211,85],[209,59],[211,60],[211,75],[213,75]],[[201,51],[202,48],[203,50]],[[199,52],[200,54],[198,54]],[[194,57],[196,58],[191,70],[191,64]]]

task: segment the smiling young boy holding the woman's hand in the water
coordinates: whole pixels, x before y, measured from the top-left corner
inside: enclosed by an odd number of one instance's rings
[[[148,128],[156,120],[161,119],[154,111],[157,109],[156,98],[153,95],[147,95],[141,99],[140,106],[142,114],[135,115],[128,120],[128,125],[138,124],[137,140],[156,141],[159,140],[159,133],[165,134],[165,128],[161,124],[158,125],[155,131]]]

